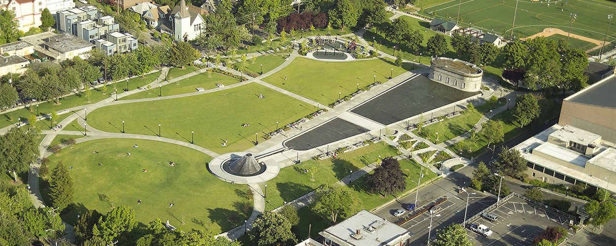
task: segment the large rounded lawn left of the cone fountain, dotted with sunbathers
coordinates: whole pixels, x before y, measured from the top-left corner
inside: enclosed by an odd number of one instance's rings
[[[139,148],[132,148],[133,145]],[[248,187],[232,185],[211,175],[206,169],[211,157],[190,148],[148,140],[92,140],[73,149],[65,148],[60,156],[52,155],[49,159],[50,168],[58,161],[73,167],[69,173],[76,205],[62,214],[62,219],[70,224],[86,209],[107,213],[111,205],[100,201],[100,195],[113,197],[116,207],[134,208],[141,228],[160,218],[177,228],[205,225],[214,232],[222,232],[240,224],[252,212],[251,200],[243,197]],[[171,167],[171,161],[177,165]],[[41,187],[46,203],[50,204],[46,180],[41,180]],[[142,200],[141,204],[137,200]],[[175,205],[169,208],[171,203]],[[246,211],[244,204],[249,204]]]

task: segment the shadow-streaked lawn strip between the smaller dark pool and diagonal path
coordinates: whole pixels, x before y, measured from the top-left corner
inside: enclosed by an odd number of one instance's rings
[[[261,189],[267,185],[267,203],[265,210],[272,210],[283,205],[283,202],[290,202],[304,194],[316,189],[323,184],[336,183],[349,175],[349,171],[357,171],[366,165],[376,162],[378,156],[389,157],[398,156],[400,153],[393,146],[387,145],[383,141],[359,148],[354,151],[342,153],[338,158],[328,158],[320,161],[303,161],[299,165],[285,167],[280,170],[278,175],[265,183],[261,183]],[[310,180],[311,175],[304,173],[304,169],[317,167],[314,174],[314,181]]]

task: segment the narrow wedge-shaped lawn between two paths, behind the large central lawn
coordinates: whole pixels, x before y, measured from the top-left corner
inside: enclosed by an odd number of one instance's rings
[[[128,97],[120,98],[120,100],[132,100],[140,98],[153,98],[159,97],[159,93],[162,92],[163,97],[170,95],[179,95],[184,93],[197,92],[197,88],[209,90],[216,88],[216,84],[232,85],[238,81],[229,76],[225,76],[218,73],[212,73],[212,77],[208,77],[208,73],[200,73],[192,77],[187,77],[181,81],[163,85],[162,88],[152,88],[144,92],[135,93]]]

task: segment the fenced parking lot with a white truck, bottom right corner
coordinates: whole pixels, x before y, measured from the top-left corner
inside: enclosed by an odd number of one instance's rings
[[[479,218],[479,220],[472,222],[490,227],[493,231],[492,236],[484,237],[467,229],[467,234],[473,245],[530,246],[532,245],[533,238],[538,236],[548,226],[569,228],[569,219],[541,210],[517,197],[511,197],[511,199],[490,213],[498,216],[498,220],[489,221],[485,218]],[[575,234],[573,230],[568,231],[568,238]]]

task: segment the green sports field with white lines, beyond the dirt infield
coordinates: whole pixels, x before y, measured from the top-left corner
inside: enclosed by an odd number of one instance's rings
[[[565,4],[566,3],[566,4]],[[546,1],[518,1],[517,2],[516,25],[514,35],[521,38],[543,31],[544,28],[559,28],[563,31],[569,30],[571,18],[569,14],[577,15],[571,26],[571,33],[586,36],[588,38],[602,40],[604,38],[609,20],[608,14],[613,14],[612,8],[616,3],[599,0],[567,0],[558,1],[556,4],[551,2],[549,7]],[[511,32],[511,22],[516,6],[516,1],[506,0],[463,0],[460,7],[460,18],[468,26],[472,23],[474,27],[481,27],[484,30],[498,34]],[[436,10],[437,17],[452,18],[456,20],[458,12],[458,1],[448,1],[443,4],[424,9],[423,14],[432,16],[430,13]],[[612,25],[616,25],[613,23]],[[616,34],[615,26],[610,26],[610,36]],[[608,38],[608,41],[614,37]]]

